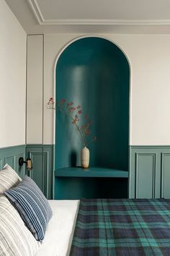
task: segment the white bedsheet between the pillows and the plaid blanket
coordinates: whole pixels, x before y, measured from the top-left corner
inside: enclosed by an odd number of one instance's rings
[[[53,217],[37,256],[68,256],[76,224],[79,200],[49,200]]]

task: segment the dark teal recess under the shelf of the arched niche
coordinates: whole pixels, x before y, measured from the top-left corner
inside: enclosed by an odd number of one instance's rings
[[[55,177],[55,199],[127,198],[128,179]]]

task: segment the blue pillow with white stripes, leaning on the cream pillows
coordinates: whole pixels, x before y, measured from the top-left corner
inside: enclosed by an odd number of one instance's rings
[[[42,241],[48,221],[52,217],[52,210],[35,182],[29,176],[25,176],[17,187],[9,189],[5,195],[18,210],[35,239]]]

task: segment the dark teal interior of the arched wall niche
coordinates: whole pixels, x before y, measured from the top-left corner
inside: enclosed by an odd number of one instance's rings
[[[97,136],[97,141],[87,145],[90,150],[91,170],[103,168],[103,177],[106,168],[128,172],[130,67],[125,54],[104,38],[80,38],[65,48],[58,58],[55,82],[55,100],[64,98],[66,101],[73,101],[81,106],[81,119],[88,115],[92,120],[91,134]],[[83,144],[76,127],[73,127],[66,116],[56,111],[55,197],[62,197],[63,190],[64,197],[67,197],[69,174],[67,178],[61,178],[62,175],[58,174],[63,168],[71,170],[71,167],[80,166],[81,148]],[[82,177],[75,178],[78,189],[80,183],[81,186],[86,183],[83,182],[84,170],[81,171]],[[89,175],[89,182],[92,176],[93,174]],[[114,176],[112,172],[110,176]],[[106,179],[104,182],[107,182]],[[126,182],[126,186],[125,182],[122,183],[128,195],[128,179]],[[58,191],[59,187],[63,190]],[[109,187],[112,192],[112,186]],[[70,191],[68,197],[69,194]]]

